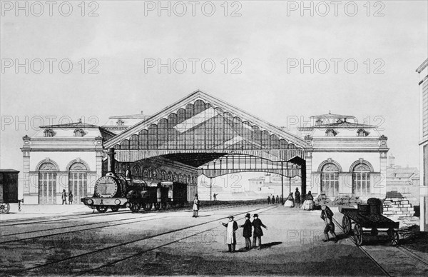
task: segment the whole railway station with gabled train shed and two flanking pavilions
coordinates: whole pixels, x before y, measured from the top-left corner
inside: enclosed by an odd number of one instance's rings
[[[92,196],[111,148],[116,173],[129,169],[133,178],[148,183],[188,183],[188,200],[198,191],[198,176],[211,182],[240,172],[298,178],[301,192],[314,196],[325,191],[330,198],[384,198],[387,137],[353,116],[329,113],[312,119],[299,136],[195,91],[152,116],[115,116],[104,126],[41,126],[23,138],[24,198],[60,203],[63,189],[73,192],[75,203]]]

